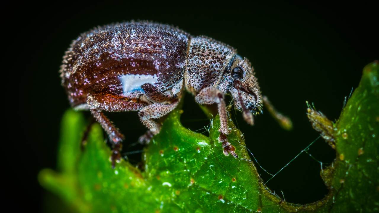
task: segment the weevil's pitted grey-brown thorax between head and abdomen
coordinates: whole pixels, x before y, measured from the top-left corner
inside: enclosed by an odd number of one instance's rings
[[[209,86],[220,87],[227,92],[228,84],[221,80],[235,54],[233,47],[214,39],[205,36],[192,38],[186,60],[186,89],[194,95]]]

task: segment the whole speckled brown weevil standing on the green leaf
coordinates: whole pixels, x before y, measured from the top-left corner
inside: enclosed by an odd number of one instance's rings
[[[235,158],[227,139],[225,94],[232,95],[248,124],[262,111],[262,94],[247,58],[215,39],[159,23],[117,23],[81,34],[66,51],[60,74],[71,106],[91,111],[108,134],[113,168],[125,137],[103,111],[138,111],[149,129],[139,140],[148,142],[161,129],[155,119],[175,109],[186,90],[199,104],[217,105],[218,140],[223,153]]]

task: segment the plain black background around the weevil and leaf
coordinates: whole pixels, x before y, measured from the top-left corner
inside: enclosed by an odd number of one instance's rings
[[[20,37],[25,63],[20,72],[14,71],[21,79],[17,125],[23,128],[17,144],[17,155],[21,157],[17,160],[23,167],[13,167],[13,180],[20,186],[17,194],[26,194],[22,196],[24,206],[40,211],[44,197],[51,194],[39,186],[37,174],[42,168],[55,168],[60,119],[69,108],[58,70],[64,51],[83,31],[112,22],[147,19],[178,26],[195,36],[204,34],[237,48],[254,66],[263,94],[294,124],[293,131],[286,132],[268,113],[257,116],[254,127],[247,125],[239,112],[233,116],[245,134],[247,147],[271,173],[318,136],[307,120],[305,101],[314,102],[329,119],[338,119],[344,97],[358,86],[363,67],[379,58],[376,5],[231,3],[224,6],[226,9],[204,5],[146,8],[149,3],[46,6],[22,5],[19,12],[23,22],[15,23],[20,30],[15,34]],[[189,94],[183,110],[182,122],[191,130],[209,124]],[[146,131],[137,114],[109,116],[129,138],[124,151],[141,150],[142,146],[128,147]],[[310,147],[309,153],[326,165],[335,158],[334,150],[322,139]],[[134,164],[140,157],[128,155]],[[269,179],[262,169],[258,170],[263,180]],[[287,201],[305,204],[327,194],[319,172],[320,164],[303,153],[267,185],[281,197],[283,191]],[[23,205],[16,207],[20,206]]]

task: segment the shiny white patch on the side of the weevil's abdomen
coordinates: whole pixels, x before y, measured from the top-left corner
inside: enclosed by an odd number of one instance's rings
[[[121,75],[119,77],[119,80],[122,84],[122,90],[124,94],[130,94],[133,91],[141,90],[142,85],[146,83],[154,84],[158,81],[157,74],[154,75],[133,75],[133,74],[127,74],[127,75]]]

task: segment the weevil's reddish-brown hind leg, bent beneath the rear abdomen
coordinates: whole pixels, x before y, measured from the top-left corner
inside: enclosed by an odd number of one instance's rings
[[[104,115],[102,111],[137,111],[146,106],[146,103],[138,103],[136,100],[126,99],[122,96],[111,96],[106,94],[89,94],[87,97],[88,108],[97,122],[108,134],[112,143],[112,168],[116,161],[121,158],[122,140],[124,135],[116,128],[113,123]]]

